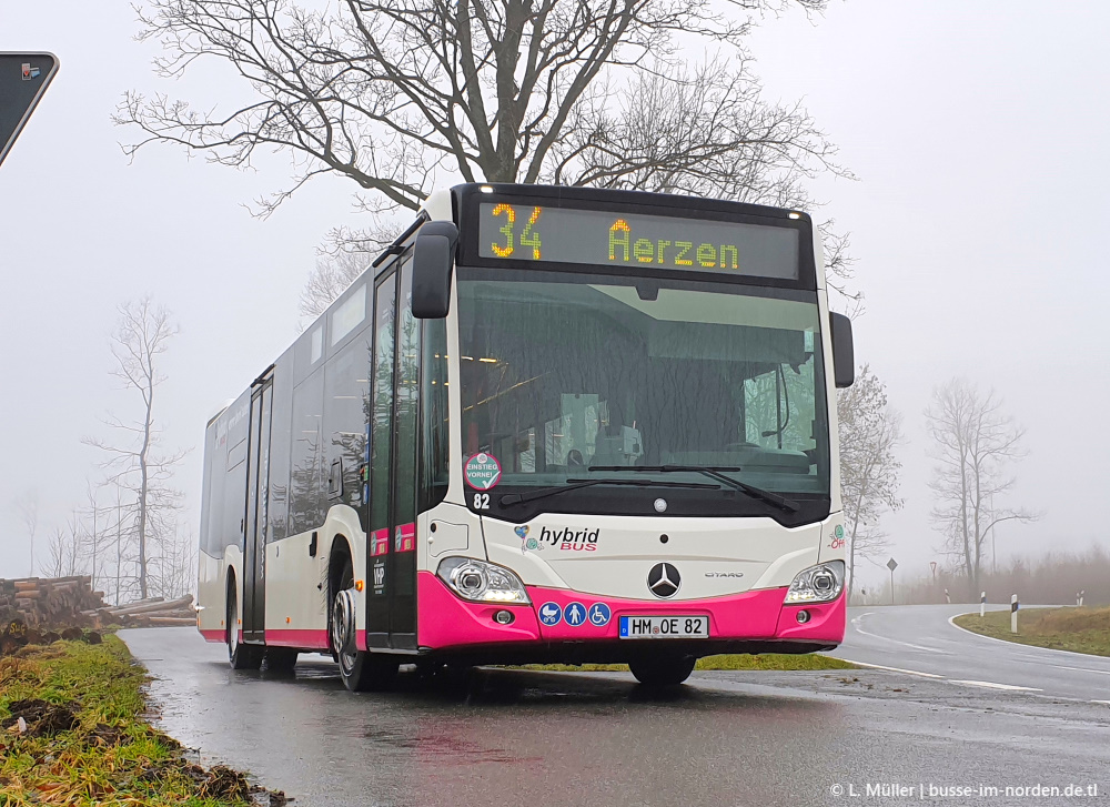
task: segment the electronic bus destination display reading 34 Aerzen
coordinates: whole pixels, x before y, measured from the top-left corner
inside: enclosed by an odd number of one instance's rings
[[[798,278],[798,231],[619,211],[478,205],[478,255],[629,269]]]

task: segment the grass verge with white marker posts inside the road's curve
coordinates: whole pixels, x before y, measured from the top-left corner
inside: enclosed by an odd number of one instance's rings
[[[983,636],[1054,650],[1110,656],[1110,607],[1033,608],[1018,612],[1018,633],[1010,633],[1009,611],[962,614],[953,622]]]

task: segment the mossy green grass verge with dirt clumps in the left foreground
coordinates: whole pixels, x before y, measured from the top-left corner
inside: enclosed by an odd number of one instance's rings
[[[242,774],[189,763],[143,720],[145,683],[115,636],[0,658],[0,805],[250,804]]]

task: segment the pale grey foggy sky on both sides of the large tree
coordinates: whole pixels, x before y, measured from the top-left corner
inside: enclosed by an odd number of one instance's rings
[[[1107,545],[1100,523],[1110,437],[1102,334],[1110,280],[1110,7],[846,0],[823,18],[768,18],[751,38],[770,99],[803,100],[859,180],[818,180],[817,211],[851,233],[866,312],[856,351],[905,415],[902,511],[884,525],[899,576],[944,564],[929,522],[922,411],[966,375],[993,387],[1028,430],[1008,502],[1039,511],[998,528],[1000,561]],[[333,226],[357,226],[349,180],[317,179],[270,220],[243,204],[283,186],[289,158],[236,172],[155,147],[128,164],[135,132],[109,115],[128,89],[200,107],[242,98],[210,67],[157,82],[153,49],[125,3],[0,7],[0,50],[49,50],[61,71],[0,168],[0,576],[28,573],[12,507],[39,498],[37,558],[87,480],[84,435],[134,413],[109,375],[115,306],[151,294],[181,326],[157,413],[176,473],[181,529],[196,532],[204,424],[292,341],[297,296]],[[104,493],[104,504],[108,494]],[[885,562],[886,558],[882,558]],[[881,583],[885,568],[859,569]],[[999,599],[1002,597],[999,596]]]

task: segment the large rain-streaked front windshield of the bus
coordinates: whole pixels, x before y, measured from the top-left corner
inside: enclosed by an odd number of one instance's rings
[[[693,465],[827,498],[816,292],[582,272],[456,276],[463,461],[492,455],[498,487]]]

